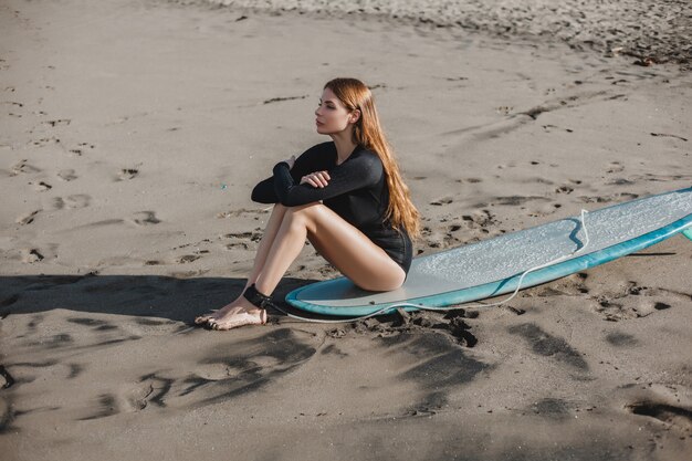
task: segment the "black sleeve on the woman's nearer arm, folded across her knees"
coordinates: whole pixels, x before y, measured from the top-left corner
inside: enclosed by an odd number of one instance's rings
[[[323,188],[296,184],[291,172],[285,161],[280,161],[274,167],[274,192],[279,201],[286,207],[325,200],[374,186],[381,178],[384,168],[375,154],[361,155],[329,169],[327,172],[331,179]]]

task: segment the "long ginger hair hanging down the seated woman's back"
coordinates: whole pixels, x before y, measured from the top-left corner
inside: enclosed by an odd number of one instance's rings
[[[370,88],[357,78],[334,78],[324,88],[332,90],[348,111],[360,111],[360,117],[354,124],[354,143],[377,154],[385,167],[389,189],[386,218],[395,228],[403,227],[411,238],[417,238],[420,234],[420,213],[411,201],[409,188],[403,184],[391,146],[379,124]]]

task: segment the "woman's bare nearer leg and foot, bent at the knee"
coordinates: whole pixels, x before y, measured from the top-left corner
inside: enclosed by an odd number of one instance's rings
[[[291,207],[285,211],[255,281],[260,293],[269,295],[274,291],[308,237],[332,264],[363,289],[388,291],[403,283],[403,270],[381,248],[324,205],[310,203]],[[260,311],[241,296],[223,315],[210,319],[209,324],[217,329],[230,329],[249,323],[262,323]],[[256,321],[252,319],[253,316]]]

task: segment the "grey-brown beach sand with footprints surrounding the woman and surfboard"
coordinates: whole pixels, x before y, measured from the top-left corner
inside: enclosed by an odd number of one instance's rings
[[[685,459],[681,235],[502,307],[192,319],[243,286],[269,216],[250,188],[327,140],[334,76],[373,87],[418,254],[689,187],[689,46],[665,50],[690,7],[468,2],[440,27],[452,2],[294,3],[0,6],[2,459]],[[598,43],[536,32],[576,4]],[[635,55],[597,27],[632,18],[670,39]],[[275,295],[335,275],[306,247]]]

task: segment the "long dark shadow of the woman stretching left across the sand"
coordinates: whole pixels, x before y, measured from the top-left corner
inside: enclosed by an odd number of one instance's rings
[[[273,293],[276,304],[292,290],[315,282],[284,277]],[[0,276],[0,318],[63,308],[81,313],[167,318],[193,325],[195,317],[220,308],[243,290],[244,279],[177,279],[162,275]],[[295,312],[295,311],[293,311]],[[272,310],[270,314],[285,315]]]

